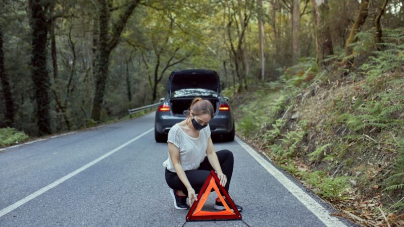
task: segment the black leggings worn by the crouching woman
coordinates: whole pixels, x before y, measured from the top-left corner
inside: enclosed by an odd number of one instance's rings
[[[218,156],[222,172],[227,177],[227,183],[224,188],[226,189],[226,191],[229,191],[231,175],[233,174],[233,153],[229,150],[220,150],[216,152],[216,155]],[[193,190],[195,190],[196,194],[199,193],[200,189],[204,185],[206,179],[208,178],[208,175],[211,173],[212,170],[214,169],[209,163],[208,157],[205,157],[205,160],[200,163],[198,169],[185,171],[185,175]],[[188,191],[186,190],[186,187],[182,183],[182,181],[178,178],[177,173],[173,173],[167,168],[166,181],[170,188],[174,190],[181,190],[185,195],[188,196]]]

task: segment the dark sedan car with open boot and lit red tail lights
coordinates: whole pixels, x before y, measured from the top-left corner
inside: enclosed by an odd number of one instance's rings
[[[155,139],[167,142],[170,128],[186,119],[192,99],[201,97],[212,102],[214,118],[209,122],[212,135],[223,135],[224,141],[234,140],[234,118],[229,99],[223,97],[219,75],[212,70],[181,70],[170,74],[168,93],[161,98],[156,111]]]

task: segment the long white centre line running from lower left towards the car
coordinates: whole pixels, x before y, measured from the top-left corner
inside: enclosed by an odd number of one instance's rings
[[[32,199],[34,199],[35,197],[37,197],[37,196],[39,196],[39,195],[45,193],[45,192],[48,191],[49,189],[52,189],[52,188],[58,186],[59,184],[61,184],[61,183],[63,183],[64,181],[68,180],[69,178],[74,177],[75,175],[77,175],[77,174],[79,174],[80,172],[84,171],[86,168],[90,167],[91,165],[97,163],[97,162],[100,161],[100,160],[103,160],[104,158],[106,158],[106,157],[110,156],[111,154],[117,152],[118,150],[120,150],[120,149],[126,147],[127,145],[129,145],[129,144],[132,143],[133,141],[139,139],[140,137],[146,135],[147,133],[149,133],[149,132],[151,132],[151,131],[153,131],[153,130],[154,130],[154,128],[148,130],[147,132],[142,133],[142,134],[139,135],[139,136],[136,136],[135,138],[133,138],[133,139],[129,140],[128,142],[122,144],[121,146],[119,146],[119,147],[113,149],[112,151],[110,151],[110,152],[104,154],[103,156],[100,156],[99,158],[97,158],[97,159],[95,159],[95,160],[93,160],[93,161],[91,161],[91,162],[89,162],[89,163],[83,165],[82,167],[76,169],[76,170],[73,171],[72,173],[70,173],[70,174],[64,176],[63,178],[61,178],[61,179],[55,181],[54,183],[51,183],[51,184],[49,184],[49,185],[47,185],[47,186],[45,186],[45,187],[39,189],[38,191],[32,193],[31,195],[29,195],[29,196],[27,196],[27,197],[21,199],[20,201],[15,202],[14,204],[12,204],[12,205],[10,205],[10,206],[4,208],[3,210],[0,211],[0,217],[2,217],[3,215],[5,215],[5,214],[7,214],[7,213],[9,213],[9,212],[11,212],[11,211],[13,211],[14,209],[18,208],[19,206],[23,205],[24,203],[26,203],[26,202],[28,202],[28,201],[30,201],[30,200],[32,200]]]

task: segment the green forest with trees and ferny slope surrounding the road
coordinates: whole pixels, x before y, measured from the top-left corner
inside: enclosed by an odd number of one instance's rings
[[[211,69],[237,136],[336,215],[402,225],[403,5],[2,0],[0,146],[127,119],[172,71]]]

